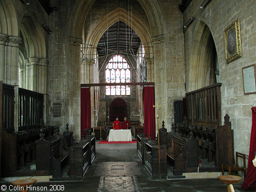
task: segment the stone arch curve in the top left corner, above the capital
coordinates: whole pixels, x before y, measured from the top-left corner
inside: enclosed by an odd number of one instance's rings
[[[11,0],[0,1],[0,33],[18,36],[17,14]]]

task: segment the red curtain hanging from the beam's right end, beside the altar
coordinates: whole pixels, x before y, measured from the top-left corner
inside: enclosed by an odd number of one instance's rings
[[[155,122],[155,87],[145,86],[144,94],[144,128],[143,132],[146,137],[151,135],[151,139],[156,139],[156,122]]]

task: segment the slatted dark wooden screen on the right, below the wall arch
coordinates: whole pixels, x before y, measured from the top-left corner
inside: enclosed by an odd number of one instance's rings
[[[190,124],[221,125],[221,83],[186,93],[187,117]]]

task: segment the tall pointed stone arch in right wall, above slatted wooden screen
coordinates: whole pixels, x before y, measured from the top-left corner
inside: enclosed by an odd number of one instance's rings
[[[215,70],[216,48],[210,28],[199,21],[190,53],[188,90],[193,91],[208,86]],[[214,53],[215,52],[215,53]]]

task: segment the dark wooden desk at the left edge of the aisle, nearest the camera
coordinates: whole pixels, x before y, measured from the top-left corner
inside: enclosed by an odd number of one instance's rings
[[[91,162],[91,149],[89,140],[81,140],[78,145],[71,146],[69,149],[71,179],[84,180]]]

